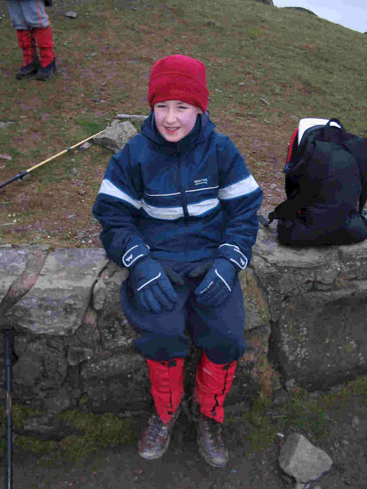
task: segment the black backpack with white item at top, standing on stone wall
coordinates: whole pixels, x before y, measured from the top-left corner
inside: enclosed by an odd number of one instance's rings
[[[301,119],[286,164],[287,199],[269,214],[282,244],[350,244],[367,238],[367,139],[338,119]]]

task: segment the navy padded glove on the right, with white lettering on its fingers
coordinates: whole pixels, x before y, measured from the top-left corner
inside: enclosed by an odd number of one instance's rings
[[[208,269],[208,265],[195,268],[189,277],[199,277]],[[226,258],[217,258],[206,273],[203,282],[195,290],[196,300],[208,307],[219,306],[233,289],[235,267]]]

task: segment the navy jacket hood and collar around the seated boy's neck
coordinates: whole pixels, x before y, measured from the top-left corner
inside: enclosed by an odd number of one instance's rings
[[[140,133],[143,134],[147,139],[152,141],[157,146],[162,149],[170,149],[174,151],[180,151],[185,147],[192,147],[195,144],[200,143],[205,140],[210,133],[214,131],[215,124],[209,119],[209,112],[206,111],[205,114],[198,114],[195,122],[195,126],[185,137],[177,142],[167,141],[157,129],[155,122],[154,112],[151,111],[150,115],[141,126]]]

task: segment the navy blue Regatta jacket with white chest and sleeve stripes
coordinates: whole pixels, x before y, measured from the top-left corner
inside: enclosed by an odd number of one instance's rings
[[[193,130],[171,143],[151,112],[111,158],[93,215],[119,266],[128,266],[133,248],[157,260],[196,262],[214,259],[223,244],[222,255],[231,259],[236,250],[250,262],[262,191],[229,137],[214,127],[208,113],[198,115]]]

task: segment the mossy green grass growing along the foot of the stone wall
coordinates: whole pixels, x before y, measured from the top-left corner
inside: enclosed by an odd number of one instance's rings
[[[289,402],[279,407],[272,405],[270,399],[255,399],[251,409],[239,415],[228,414],[225,426],[229,436],[245,427],[241,442],[251,447],[252,452],[266,450],[279,433],[286,437],[291,432],[298,432],[311,443],[323,445],[331,427],[337,422],[339,410],[348,406],[354,396],[361,396],[367,402],[367,376],[317,399],[311,399],[306,391],[297,389],[291,393]],[[25,406],[13,406],[14,432],[22,432],[24,421],[35,414],[38,413]],[[0,408],[0,417],[0,456],[4,456],[6,419],[3,407]],[[58,459],[61,457],[78,464],[91,456],[95,457],[104,448],[136,445],[140,435],[141,422],[137,418],[119,418],[113,413],[97,415],[72,410],[61,413],[57,418],[66,422],[75,433],[61,442],[16,435],[13,442],[15,448],[37,455],[40,463],[47,465],[52,463],[52,453],[57,453]]]

